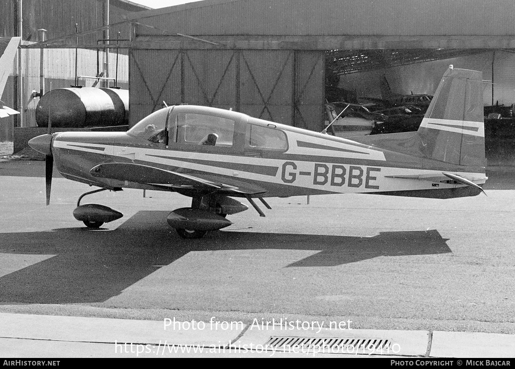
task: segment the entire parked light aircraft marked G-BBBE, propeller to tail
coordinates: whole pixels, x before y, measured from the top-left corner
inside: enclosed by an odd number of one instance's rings
[[[370,193],[431,198],[475,196],[485,176],[482,73],[449,67],[417,132],[353,137],[302,130],[205,106],[168,106],[124,133],[63,132],[29,141],[63,177],[102,190],[175,191],[192,198],[168,224],[184,238],[231,225],[227,215],[266,197]],[[85,193],[87,195],[92,192]],[[80,205],[90,228],[122,216]]]

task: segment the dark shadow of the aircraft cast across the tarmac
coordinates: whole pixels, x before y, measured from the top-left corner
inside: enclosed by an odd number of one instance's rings
[[[0,253],[55,255],[2,276],[0,304],[103,302],[190,251],[320,250],[284,267],[329,267],[377,256],[451,252],[436,230],[382,232],[374,237],[217,231],[203,239],[184,240],[166,224],[167,214],[140,211],[112,231],[0,233]]]

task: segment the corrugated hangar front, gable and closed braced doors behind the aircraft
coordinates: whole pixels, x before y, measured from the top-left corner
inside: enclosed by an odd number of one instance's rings
[[[326,64],[345,74],[349,60],[348,69],[367,70],[388,66],[388,56],[402,65],[512,49],[514,10],[508,0],[206,0],[140,12],[131,19],[131,124],[165,101],[319,131]],[[377,52],[387,49],[397,50]],[[415,49],[432,51],[421,60]],[[357,57],[367,50],[375,58]]]

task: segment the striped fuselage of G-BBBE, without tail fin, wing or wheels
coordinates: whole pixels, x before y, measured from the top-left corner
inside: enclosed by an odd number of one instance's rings
[[[329,193],[391,193],[456,189],[461,185],[446,182],[410,180],[399,176],[441,176],[453,169],[483,183],[477,168],[467,168],[437,160],[416,157],[372,147],[329,135],[301,130],[235,112],[195,106],[176,106],[170,110],[168,124],[181,114],[217,114],[231,118],[234,132],[230,144],[199,145],[198,142],[148,140],[129,133],[59,133],[52,152],[59,172],[66,178],[105,188],[143,188],[171,190],[159,183],[122,181],[93,176],[90,170],[101,163],[136,163],[200,177],[236,188],[262,189],[260,197],[314,195]],[[184,113],[186,112],[186,113]],[[157,112],[156,112],[157,113]],[[219,117],[221,116],[221,117]],[[209,116],[208,116],[209,118]],[[253,146],[249,127],[281,132],[278,147]],[[164,127],[163,127],[164,128]],[[252,128],[254,129],[254,128]],[[216,132],[216,128],[213,127]],[[173,130],[166,130],[170,137]],[[266,133],[262,134],[265,136]],[[177,139],[175,139],[177,140]],[[157,141],[157,142],[153,142]],[[263,146],[273,146],[264,144]],[[179,192],[181,192],[179,190]],[[187,194],[187,191],[182,191]],[[259,192],[259,191],[258,191]],[[416,192],[413,192],[416,195]],[[441,193],[440,193],[441,195]],[[238,196],[232,193],[231,196]],[[257,195],[256,195],[257,196]]]

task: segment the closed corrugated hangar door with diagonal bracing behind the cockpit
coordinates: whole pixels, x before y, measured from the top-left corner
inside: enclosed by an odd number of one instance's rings
[[[324,62],[321,51],[131,49],[130,124],[165,101],[321,131]]]

